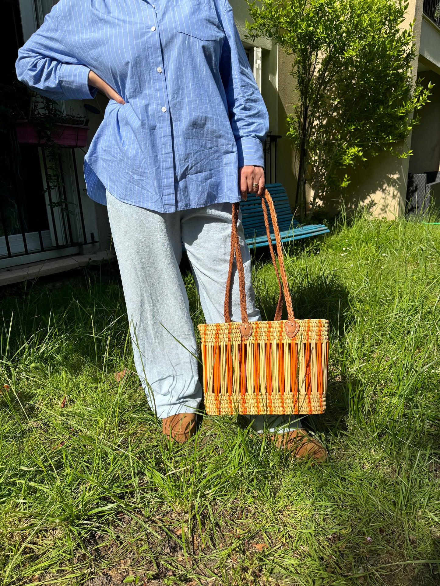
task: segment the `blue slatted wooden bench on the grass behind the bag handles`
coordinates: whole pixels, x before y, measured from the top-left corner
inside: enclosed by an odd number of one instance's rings
[[[297,220],[293,218],[286,190],[281,183],[269,183],[266,185],[266,189],[272,196],[273,203],[275,204],[282,242],[289,243],[293,240],[300,240],[302,238],[309,238],[310,236],[317,236],[318,234],[326,234],[327,232],[330,232],[324,224],[300,226]],[[255,194],[253,193],[249,193],[248,199],[245,202],[242,201],[240,203],[240,209],[242,213],[243,229],[245,230],[246,244],[248,244],[249,248],[268,246],[268,237],[266,236],[260,198],[255,197]],[[270,234],[272,235],[272,244],[275,244],[275,234],[273,234],[270,214],[269,224]]]

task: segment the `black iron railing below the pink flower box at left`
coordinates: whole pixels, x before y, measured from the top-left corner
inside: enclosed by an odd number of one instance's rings
[[[72,157],[76,202],[70,202],[67,199],[65,171],[60,155],[57,156],[60,183],[55,190],[53,186],[51,187],[50,163],[48,165],[46,148],[42,147],[42,162],[46,180],[45,192],[49,203],[47,204],[41,196],[37,205],[36,202],[33,202],[33,194],[29,197],[33,185],[32,178],[31,180],[28,178],[26,182],[26,163],[28,161],[22,161],[22,149],[15,131],[8,134],[9,148],[6,148],[1,156],[0,258],[12,258],[87,244],[75,148],[63,147],[63,150],[67,149],[65,152],[70,151],[69,155]],[[36,148],[36,145],[26,146],[26,149],[32,149],[32,151],[33,149],[36,151]],[[67,160],[65,159],[65,162]],[[37,173],[41,174],[40,169],[33,169],[35,193],[39,190],[41,192],[43,188],[42,185],[38,186],[40,177],[36,177]],[[78,214],[74,213],[76,206]],[[39,222],[35,222],[33,217],[36,213],[40,216]],[[32,227],[32,224],[38,225]]]

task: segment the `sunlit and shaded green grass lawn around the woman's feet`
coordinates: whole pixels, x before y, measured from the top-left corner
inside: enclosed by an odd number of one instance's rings
[[[296,315],[331,325],[314,468],[229,417],[170,445],[114,379],[133,363],[105,267],[4,296],[1,583],[440,584],[439,254],[440,226],[365,216],[286,251]],[[270,319],[266,257],[254,281]]]

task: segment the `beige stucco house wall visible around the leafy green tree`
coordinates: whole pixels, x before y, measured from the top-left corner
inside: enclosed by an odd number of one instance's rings
[[[231,4],[242,40],[249,43],[249,40],[245,39],[245,21],[246,18],[249,18],[247,5],[244,0],[231,0]],[[423,16],[423,0],[409,0],[407,17],[403,26],[409,26],[411,22],[414,22],[415,44],[417,52],[420,50],[422,62],[428,64],[430,69],[435,70],[436,60],[438,60],[438,73],[440,73],[440,33],[435,25],[432,25],[431,21]],[[269,47],[264,44],[264,41],[264,39],[260,39],[255,42],[255,45],[268,49]],[[266,82],[266,86],[262,87],[262,94],[269,110],[270,130],[273,134],[283,136],[278,141],[277,180],[283,183],[290,202],[294,205],[296,191],[295,152],[292,143],[285,138],[286,118],[288,114],[292,113],[296,100],[295,80],[290,75],[292,59],[279,47],[273,46],[270,52],[266,50],[263,67],[265,63],[266,67],[270,67],[271,70],[270,84]],[[417,66],[418,59],[415,59],[413,64],[414,79],[417,74]],[[267,76],[264,75],[263,71],[263,80],[265,79]],[[436,161],[437,157],[435,148],[438,148],[440,152],[440,104],[438,103],[440,83],[438,83],[436,94],[438,97],[433,97],[431,104],[428,104],[422,112],[422,125],[416,127],[413,135],[409,135],[404,142],[396,145],[397,152],[412,149],[414,152],[417,151],[417,155],[412,159],[411,157],[400,159],[390,153],[385,153],[354,168],[347,169],[351,179],[350,185],[348,188],[334,193],[329,200],[324,202],[327,211],[337,212],[339,207],[343,205],[348,211],[355,210],[359,206],[367,207],[373,214],[388,219],[404,213],[410,165],[411,169],[419,169],[419,166],[426,166],[425,162],[428,161],[428,166],[432,166],[431,159]],[[428,134],[431,138],[427,141]],[[438,137],[438,139],[434,137]],[[423,145],[424,148],[422,148]],[[435,151],[434,154],[431,153],[431,159],[429,159],[429,149]],[[424,168],[424,170],[428,169]],[[269,177],[266,180],[269,180]]]

